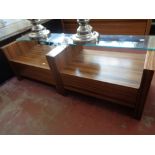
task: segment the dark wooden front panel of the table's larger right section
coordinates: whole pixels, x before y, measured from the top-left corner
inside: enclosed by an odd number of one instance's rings
[[[66,89],[90,94],[91,96],[97,96],[117,103],[120,102],[131,107],[135,106],[137,89],[67,74],[62,74],[62,80]]]

